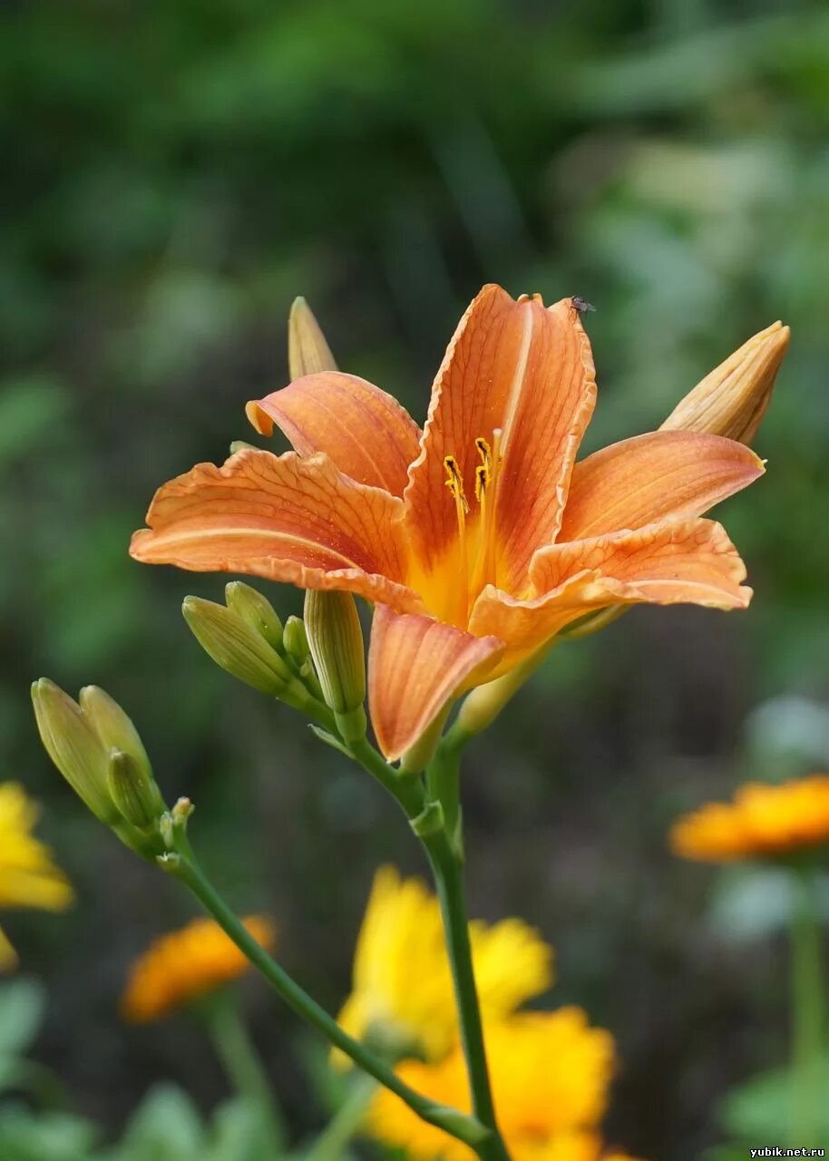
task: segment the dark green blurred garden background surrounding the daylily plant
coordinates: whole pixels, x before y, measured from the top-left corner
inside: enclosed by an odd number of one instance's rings
[[[417,850],[193,641],[181,598],[223,578],[127,546],[157,485],[253,438],[244,404],[286,382],[295,295],[421,420],[457,317],[498,281],[598,308],[589,448],[793,326],[767,475],[722,510],[751,610],[636,611],[563,647],[466,774],[473,911],[538,924],[552,1002],[617,1036],[611,1139],[659,1161],[723,1139],[719,1098],[786,1052],[777,896],[679,864],[665,831],[740,778],[829,766],[828,130],[829,10],[805,0],[6,0],[2,773],[43,800],[78,890],[7,926],[51,993],[38,1055],[84,1112],[117,1130],[152,1080],[204,1108],[224,1082],[185,1021],[117,1022],[130,958],[192,908],[57,779],[28,684],[129,708],[217,881],[277,917],[283,961],[336,1008],[375,866],[421,872]],[[247,998],[311,1131],[305,1033]]]

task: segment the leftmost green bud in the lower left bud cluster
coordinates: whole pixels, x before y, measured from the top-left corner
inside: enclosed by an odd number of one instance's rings
[[[109,751],[84,711],[45,677],[31,686],[31,701],[46,753],[92,813],[113,825],[120,816],[107,787]]]

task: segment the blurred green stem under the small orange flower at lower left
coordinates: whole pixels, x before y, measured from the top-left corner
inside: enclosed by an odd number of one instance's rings
[[[202,1012],[216,1054],[233,1088],[254,1108],[261,1109],[268,1132],[269,1155],[280,1156],[288,1144],[284,1118],[247,1026],[239,1015],[236,996],[229,990],[218,993],[202,1005]]]

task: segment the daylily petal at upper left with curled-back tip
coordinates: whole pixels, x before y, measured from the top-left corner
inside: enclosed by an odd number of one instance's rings
[[[420,428],[405,408],[356,375],[320,372],[247,404],[261,435],[274,424],[300,455],[324,452],[361,484],[402,496],[418,455]]]

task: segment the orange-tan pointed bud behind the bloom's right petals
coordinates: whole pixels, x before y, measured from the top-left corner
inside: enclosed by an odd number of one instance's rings
[[[750,444],[771,402],[790,333],[783,323],[772,323],[755,334],[679,402],[661,430]]]

